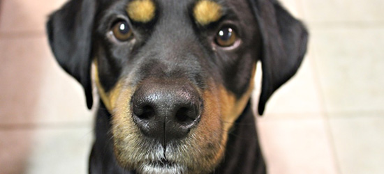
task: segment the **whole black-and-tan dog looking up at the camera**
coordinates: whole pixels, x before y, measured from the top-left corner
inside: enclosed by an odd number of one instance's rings
[[[100,96],[89,173],[267,173],[256,63],[263,115],[308,40],[275,0],[71,0],[47,35],[89,109]]]

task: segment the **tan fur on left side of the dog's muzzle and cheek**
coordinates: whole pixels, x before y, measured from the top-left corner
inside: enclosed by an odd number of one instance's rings
[[[129,100],[131,99],[133,90],[124,85],[124,80],[119,80],[115,87],[106,93],[98,77],[97,58],[94,59],[93,67],[94,81],[98,94],[108,111],[112,114],[112,133],[117,161],[121,166],[127,166],[127,161],[135,159],[135,156],[132,157],[131,155],[135,154],[138,149],[143,148],[140,144],[132,142],[144,139],[138,127],[135,126],[135,123],[131,119],[132,113],[130,111],[131,106]],[[129,145],[127,146],[127,144]],[[132,165],[133,164],[131,164],[130,167],[133,167]]]

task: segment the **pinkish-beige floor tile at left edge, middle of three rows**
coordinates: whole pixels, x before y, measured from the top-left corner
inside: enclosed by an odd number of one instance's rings
[[[44,52],[40,47],[34,47],[36,45],[34,41],[31,39],[0,40],[2,122],[33,119],[29,115],[34,113],[35,101],[39,95],[40,77],[44,72],[41,63]]]

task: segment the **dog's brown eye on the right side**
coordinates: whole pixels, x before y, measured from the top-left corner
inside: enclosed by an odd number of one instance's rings
[[[235,31],[230,27],[223,27],[217,33],[215,42],[221,47],[229,47],[233,45],[237,40]]]

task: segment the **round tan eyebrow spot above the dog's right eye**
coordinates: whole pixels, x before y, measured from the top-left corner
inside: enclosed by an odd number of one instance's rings
[[[207,25],[218,21],[223,15],[223,7],[211,0],[200,0],[193,8],[195,21],[201,25]]]

